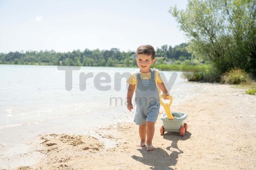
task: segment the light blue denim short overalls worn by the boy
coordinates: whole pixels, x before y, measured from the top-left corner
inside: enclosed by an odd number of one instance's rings
[[[150,79],[141,79],[141,73],[137,73],[138,83],[135,91],[137,108],[134,117],[137,125],[144,125],[146,121],[156,122],[158,118],[160,101],[155,82],[155,70],[150,69],[150,72]]]

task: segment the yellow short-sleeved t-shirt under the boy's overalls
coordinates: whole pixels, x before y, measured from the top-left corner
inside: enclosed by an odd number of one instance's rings
[[[136,91],[136,87],[137,87],[137,73],[138,71],[135,71],[133,74],[131,74],[130,78],[127,80],[127,83],[135,85],[135,91]],[[151,72],[150,73],[141,73],[141,79],[150,79],[151,78]],[[162,83],[163,80],[160,76],[160,73],[158,70],[155,69],[155,83],[156,83],[156,87],[158,87],[157,83]],[[160,90],[158,88],[158,92],[160,94]]]

